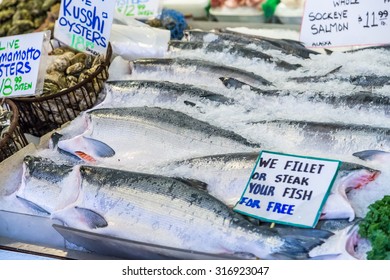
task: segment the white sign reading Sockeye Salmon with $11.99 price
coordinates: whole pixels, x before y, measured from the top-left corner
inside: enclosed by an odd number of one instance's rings
[[[389,0],[307,0],[300,40],[307,47],[390,43]]]

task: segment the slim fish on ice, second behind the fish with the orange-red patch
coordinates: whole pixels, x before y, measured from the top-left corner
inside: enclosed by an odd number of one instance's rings
[[[145,71],[175,72],[177,68],[204,73],[208,77],[234,77],[255,87],[271,86],[263,77],[239,68],[218,64],[201,59],[188,58],[145,58],[130,61],[131,73]]]

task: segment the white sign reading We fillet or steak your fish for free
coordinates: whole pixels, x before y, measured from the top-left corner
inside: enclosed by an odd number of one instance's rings
[[[269,222],[314,227],[340,164],[262,151],[234,210]]]

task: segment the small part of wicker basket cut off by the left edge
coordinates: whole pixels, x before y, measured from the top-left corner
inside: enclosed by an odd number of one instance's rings
[[[19,111],[15,103],[5,99],[2,107],[12,112],[11,125],[0,139],[0,162],[28,145],[28,142],[19,127]]]

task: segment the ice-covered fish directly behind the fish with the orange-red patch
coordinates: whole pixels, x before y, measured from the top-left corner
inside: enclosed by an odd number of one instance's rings
[[[107,92],[110,92],[113,96],[112,99],[119,99],[116,103],[123,102],[128,98],[127,95],[134,95],[135,93],[145,92],[157,92],[158,100],[161,101],[177,101],[179,96],[188,96],[190,98],[197,98],[201,100],[209,100],[216,103],[229,104],[233,103],[232,99],[229,99],[221,94],[195,87],[189,84],[172,83],[168,81],[153,81],[153,80],[130,80],[130,81],[108,81],[105,84]],[[188,100],[187,100],[188,101]],[[113,106],[113,100],[110,100],[111,106]]]

